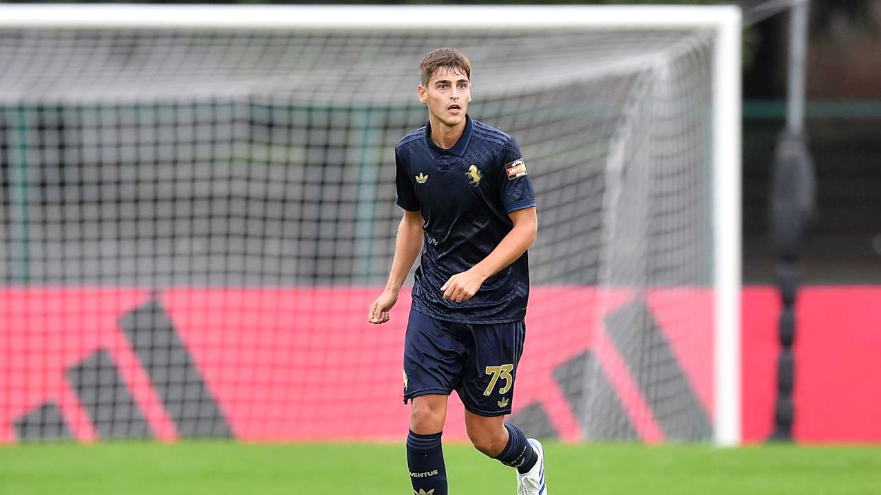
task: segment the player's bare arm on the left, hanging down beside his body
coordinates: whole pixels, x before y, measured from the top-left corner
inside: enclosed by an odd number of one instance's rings
[[[419,211],[404,211],[401,224],[397,227],[395,239],[395,258],[391,263],[389,282],[380,297],[370,305],[367,320],[380,324],[389,321],[389,311],[397,302],[403,281],[413,268],[419,251],[422,250],[422,214]]]

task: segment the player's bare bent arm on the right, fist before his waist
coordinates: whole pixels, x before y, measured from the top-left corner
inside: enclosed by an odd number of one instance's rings
[[[447,283],[441,287],[444,299],[455,302],[471,299],[487,278],[517,261],[536,240],[538,216],[535,206],[509,211],[507,215],[514,222],[511,231],[481,262],[449,277]]]

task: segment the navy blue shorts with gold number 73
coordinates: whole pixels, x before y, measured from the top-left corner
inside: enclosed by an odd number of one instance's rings
[[[410,312],[403,344],[403,403],[453,390],[480,416],[511,413],[526,325],[471,324]]]

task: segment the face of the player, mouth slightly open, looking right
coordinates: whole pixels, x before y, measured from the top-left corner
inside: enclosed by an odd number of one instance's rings
[[[449,67],[435,70],[427,85],[419,85],[419,101],[428,106],[428,112],[435,119],[448,127],[465,122],[470,100],[468,76]]]

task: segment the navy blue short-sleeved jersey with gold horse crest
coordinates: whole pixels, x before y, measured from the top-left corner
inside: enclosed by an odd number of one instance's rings
[[[448,150],[432,142],[430,125],[395,146],[397,204],[421,212],[425,233],[412,308],[444,321],[522,321],[529,299],[526,253],[487,278],[471,299],[443,299],[449,277],[481,262],[511,231],[508,212],[536,204],[514,137],[466,119]]]

